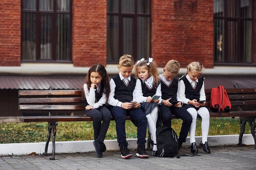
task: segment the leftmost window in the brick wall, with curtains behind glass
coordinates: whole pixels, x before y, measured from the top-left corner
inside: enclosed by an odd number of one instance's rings
[[[71,61],[71,0],[22,0],[21,59]]]

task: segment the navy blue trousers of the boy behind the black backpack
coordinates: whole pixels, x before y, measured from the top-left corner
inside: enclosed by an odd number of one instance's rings
[[[181,120],[183,120],[180,129],[179,142],[185,142],[192,123],[191,114],[183,107],[178,108],[175,106],[168,107],[166,105],[160,105],[159,109],[163,125],[165,126],[171,127],[172,114],[177,115]]]

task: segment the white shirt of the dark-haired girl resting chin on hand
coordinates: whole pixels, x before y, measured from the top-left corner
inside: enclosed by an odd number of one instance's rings
[[[93,109],[99,108],[103,106],[106,103],[106,96],[104,93],[102,93],[102,97],[99,99],[98,102],[95,103],[95,92],[99,92],[101,88],[101,85],[99,84],[96,89],[90,88],[90,91],[87,88],[87,84],[84,84],[84,92],[85,92],[85,98],[87,100],[87,103],[90,106],[93,106]]]

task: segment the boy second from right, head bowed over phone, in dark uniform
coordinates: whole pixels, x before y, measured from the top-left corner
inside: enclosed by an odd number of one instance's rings
[[[159,108],[163,125],[171,127],[172,114],[179,116],[183,120],[178,139],[180,150],[183,142],[186,142],[192,123],[192,116],[186,109],[181,107],[183,103],[180,102],[178,95],[179,80],[175,78],[179,71],[179,62],[172,59],[163,68],[163,74],[159,75],[162,92],[162,102]]]

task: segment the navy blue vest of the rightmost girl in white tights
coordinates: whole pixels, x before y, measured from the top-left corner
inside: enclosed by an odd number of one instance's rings
[[[195,82],[195,88],[192,87],[192,85],[190,84],[189,80],[186,78],[186,76],[181,77],[180,80],[183,80],[184,84],[185,84],[185,96],[187,99],[189,100],[193,100],[196,99],[197,101],[200,100],[200,90],[203,86],[203,82],[204,82],[204,78],[200,77],[198,79],[198,82]]]

